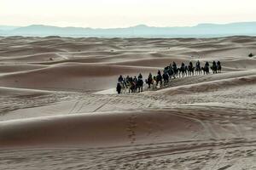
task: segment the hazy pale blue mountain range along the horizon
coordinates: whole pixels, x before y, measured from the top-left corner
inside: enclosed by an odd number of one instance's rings
[[[82,28],[57,26],[0,26],[0,36],[28,37],[226,37],[256,36],[256,22],[200,24],[183,27],[131,26],[126,28]]]

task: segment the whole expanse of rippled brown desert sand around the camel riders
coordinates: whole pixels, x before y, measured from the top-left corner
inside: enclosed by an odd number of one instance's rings
[[[256,169],[250,53],[256,37],[0,37],[0,169]],[[198,59],[223,72],[115,94]]]

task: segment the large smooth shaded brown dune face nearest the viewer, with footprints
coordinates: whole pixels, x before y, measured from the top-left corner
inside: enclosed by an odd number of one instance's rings
[[[49,116],[0,123],[4,146],[116,146],[188,140],[203,131],[193,119],[172,111],[132,111]],[[158,133],[165,133],[155,139]],[[180,135],[183,134],[183,135]],[[199,139],[200,137],[198,137]],[[202,138],[202,137],[201,137]]]

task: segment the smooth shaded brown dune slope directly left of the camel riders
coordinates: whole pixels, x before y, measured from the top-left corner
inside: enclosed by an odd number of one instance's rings
[[[154,68],[66,63],[0,77],[0,86],[11,88],[90,91],[114,87],[120,74],[146,75]],[[75,82],[75,83],[71,83]]]

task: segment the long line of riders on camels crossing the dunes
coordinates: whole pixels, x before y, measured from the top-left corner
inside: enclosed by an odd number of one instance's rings
[[[168,85],[172,79],[176,79],[177,77],[192,77],[201,74],[207,75],[210,73],[210,69],[212,70],[213,74],[221,73],[220,62],[213,61],[212,66],[206,62],[204,66],[201,66],[201,63],[198,60],[195,63],[195,66],[193,65],[192,61],[190,61],[189,65],[182,63],[181,66],[178,67],[173,61],[172,64],[167,65],[164,68],[163,73],[158,71],[156,76],[152,76],[152,74],[149,73],[148,79],[145,81],[143,81],[143,75],[141,73],[138,75],[138,77],[123,77],[120,75],[118,78],[116,91],[118,94],[141,93],[143,92],[144,82],[148,84],[149,90],[156,89]]]

